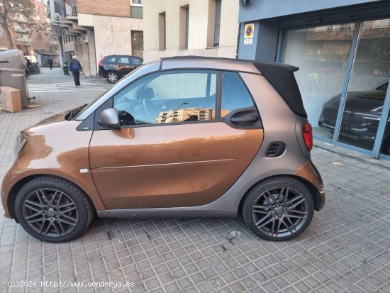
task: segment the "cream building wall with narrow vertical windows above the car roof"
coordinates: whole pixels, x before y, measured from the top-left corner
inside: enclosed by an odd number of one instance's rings
[[[146,0],[144,19],[145,62],[181,55],[236,55],[237,1]]]

